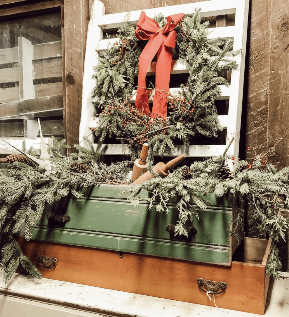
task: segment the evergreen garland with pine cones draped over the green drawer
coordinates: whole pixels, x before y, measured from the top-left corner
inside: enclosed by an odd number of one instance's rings
[[[53,204],[68,195],[80,198],[81,187],[129,184],[126,175],[131,161],[107,166],[99,161],[100,149],[94,150],[92,145],[91,149],[75,145],[79,153],[63,157],[56,150],[61,146],[64,146],[64,141],[57,143],[55,140],[50,149],[53,153],[53,169],[49,174],[36,165],[29,166],[18,161],[11,163],[9,168],[0,169],[0,264],[4,267],[5,281],[9,281],[19,264],[35,278],[41,276],[22,253],[17,237],[24,228],[25,239],[32,238],[32,228],[41,218],[46,204]],[[230,234],[236,236],[236,228],[244,231],[246,207],[250,227],[255,228],[255,232],[248,232],[247,235],[272,237],[267,273],[277,278],[281,263],[276,243],[285,240],[285,231],[289,228],[289,167],[277,171],[259,156],[252,166],[241,160],[229,177],[226,172],[225,177],[220,177],[220,170],[224,170],[229,159],[224,153],[220,157],[196,161],[191,166],[180,166],[166,178],[155,177],[143,184],[126,186],[122,194],[127,194],[134,204],[140,199],[147,199],[149,208],[157,203],[156,211],[162,212],[169,212],[169,200],[177,196],[179,222],[175,234],[185,236],[186,220],[192,220],[194,214],[198,218],[198,209],[207,208],[209,202],[206,196],[233,196],[237,202],[237,215],[233,219],[232,227],[235,229]],[[76,170],[72,166],[80,168]],[[149,166],[151,170],[153,163],[149,162]],[[149,191],[149,197],[140,197],[141,190]]]

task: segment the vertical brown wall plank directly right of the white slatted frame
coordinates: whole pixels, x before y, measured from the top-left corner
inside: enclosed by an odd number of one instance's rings
[[[248,100],[246,157],[267,152],[268,89],[270,76],[271,1],[254,0],[251,4],[250,51],[248,60]],[[250,149],[250,150],[247,150]]]

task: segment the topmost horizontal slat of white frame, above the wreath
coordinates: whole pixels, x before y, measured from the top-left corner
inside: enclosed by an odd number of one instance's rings
[[[213,0],[202,3],[179,4],[132,12],[113,13],[99,17],[98,25],[102,29],[119,28],[122,27],[127,21],[136,24],[140,17],[141,11],[144,11],[147,16],[154,18],[154,16],[157,16],[159,13],[164,16],[178,13],[193,15],[196,8],[201,8],[201,17],[234,14],[236,12],[236,3],[232,0]]]

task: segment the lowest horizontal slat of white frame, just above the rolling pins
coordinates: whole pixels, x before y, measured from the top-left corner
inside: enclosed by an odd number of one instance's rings
[[[94,144],[95,148],[96,146],[97,144]],[[103,144],[103,146],[107,146],[107,150],[105,151],[104,155],[129,155],[131,153],[130,150],[125,150],[127,144]],[[168,149],[164,156],[179,156],[181,154],[185,154],[187,157],[202,158],[222,155],[225,149],[225,145],[191,145],[189,147],[180,145],[176,146],[175,152],[172,152],[170,149]],[[157,153],[155,153],[154,156],[157,156]]]

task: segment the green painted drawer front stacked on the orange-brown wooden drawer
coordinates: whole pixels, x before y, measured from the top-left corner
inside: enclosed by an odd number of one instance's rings
[[[206,197],[211,204],[199,210],[193,219],[197,234],[191,239],[174,237],[166,230],[176,224],[176,201],[170,212],[148,210],[143,200],[137,206],[119,196],[123,186],[100,185],[83,189],[84,198],[66,198],[48,206],[34,228],[34,239],[54,243],[88,246],[199,262],[231,264],[232,242],[229,238],[232,209],[225,199]],[[142,196],[148,193],[142,193]],[[176,200],[176,199],[175,199]],[[65,224],[47,220],[48,213],[69,214]]]

